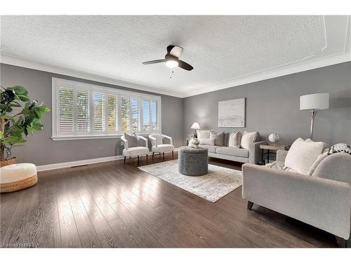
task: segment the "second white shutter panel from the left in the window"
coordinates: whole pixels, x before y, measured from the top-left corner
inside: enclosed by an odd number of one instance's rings
[[[90,130],[90,98],[88,90],[77,90],[77,132]]]

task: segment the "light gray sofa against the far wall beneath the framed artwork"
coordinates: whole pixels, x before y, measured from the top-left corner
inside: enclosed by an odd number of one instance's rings
[[[208,157],[238,161],[240,163],[258,163],[262,159],[260,144],[266,143],[264,137],[259,137],[257,142],[250,144],[249,151],[243,148],[228,147],[228,140],[225,140],[226,146],[199,145],[199,147],[208,149]]]

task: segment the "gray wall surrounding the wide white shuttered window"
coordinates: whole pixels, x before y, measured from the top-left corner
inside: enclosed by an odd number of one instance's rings
[[[72,78],[41,72],[24,67],[1,64],[1,86],[25,86],[32,99],[44,102],[51,107],[51,77],[56,76],[62,79],[71,79],[86,83],[102,84],[112,88],[132,90],[119,86],[113,86],[95,81]],[[140,90],[135,90],[141,92]],[[145,92],[147,93],[147,92]],[[149,93],[159,95],[155,93]],[[178,97],[161,95],[162,105],[162,133],[173,137],[175,147],[183,144],[183,100]],[[44,130],[41,130],[28,138],[25,145],[13,147],[13,156],[18,162],[35,163],[45,165],[51,163],[62,163],[67,161],[78,161],[121,155],[123,147],[118,139],[94,139],[94,140],[51,140],[51,112],[44,114]]]

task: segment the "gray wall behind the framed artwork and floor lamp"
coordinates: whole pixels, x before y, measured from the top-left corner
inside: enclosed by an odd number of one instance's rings
[[[192,133],[197,121],[216,131],[258,130],[265,137],[279,133],[282,143],[307,138],[310,112],[299,107],[300,95],[309,93],[330,93],[330,109],[317,112],[314,140],[351,144],[351,62],[187,97],[184,135]],[[240,97],[246,97],[246,128],[218,128],[218,101]]]

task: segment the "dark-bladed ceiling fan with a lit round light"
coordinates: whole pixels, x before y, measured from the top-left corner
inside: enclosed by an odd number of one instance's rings
[[[183,60],[180,60],[179,57],[182,55],[184,48],[180,46],[168,46],[167,47],[167,54],[164,56],[163,60],[151,60],[143,62],[144,65],[156,64],[165,62],[166,67],[180,67],[185,70],[192,70],[194,67],[187,64]]]

